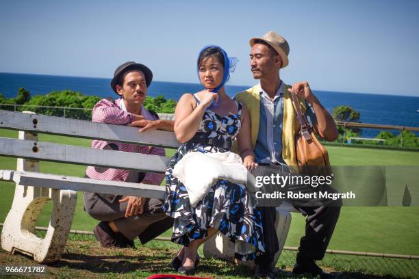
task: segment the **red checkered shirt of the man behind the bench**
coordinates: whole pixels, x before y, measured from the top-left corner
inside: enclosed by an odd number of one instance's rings
[[[141,114],[147,120],[157,120],[158,118],[151,114],[142,106]],[[102,99],[93,107],[92,121],[108,124],[127,125],[134,121],[134,116],[126,111],[122,99],[118,98],[116,101],[109,101]],[[164,148],[140,146],[138,144],[123,144],[120,142],[105,142],[103,140],[93,140],[92,148],[98,149],[113,149],[125,152],[138,152],[142,154],[165,156]],[[129,170],[120,170],[114,168],[95,168],[89,166],[86,170],[88,177],[92,179],[107,180],[107,181],[126,181],[129,175]],[[160,185],[164,179],[164,174],[156,174],[147,172],[143,181],[150,181],[153,185]]]

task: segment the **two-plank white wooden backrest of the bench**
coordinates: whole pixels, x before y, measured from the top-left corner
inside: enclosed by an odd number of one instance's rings
[[[5,110],[0,110],[0,128],[31,133],[101,139],[107,142],[124,142],[144,146],[160,146],[164,148],[177,148],[179,146],[179,142],[177,142],[173,132],[155,130],[140,133],[138,132],[138,127],[24,114]],[[0,137],[0,155],[159,173],[165,171],[169,160],[168,157],[163,156],[115,150],[97,150],[81,146],[5,137]]]

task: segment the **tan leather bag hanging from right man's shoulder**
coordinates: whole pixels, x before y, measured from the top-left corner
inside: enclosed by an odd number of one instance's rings
[[[300,124],[300,131],[295,136],[296,161],[299,172],[312,176],[333,176],[326,148],[320,144],[305,115],[302,114],[296,94],[292,92],[291,96]]]

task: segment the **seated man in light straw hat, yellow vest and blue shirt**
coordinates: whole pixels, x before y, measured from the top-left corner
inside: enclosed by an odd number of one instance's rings
[[[294,139],[299,132],[299,122],[292,103],[290,92],[299,98],[303,114],[320,137],[327,141],[338,138],[338,130],[329,112],[322,107],[307,81],[286,85],[279,76],[279,70],[288,66],[288,42],[274,31],[269,31],[261,38],[252,38],[251,70],[253,78],[259,84],[240,92],[236,100],[246,105],[251,114],[251,141],[255,153],[257,168],[254,176],[270,176],[272,173],[287,175],[291,166],[296,166]],[[310,189],[305,189],[310,190]],[[308,201],[307,201],[308,202]],[[304,216],[307,216],[305,236],[301,238],[296,256],[294,274],[309,273],[320,278],[331,278],[316,265],[325,255],[327,245],[338,221],[340,201],[335,207],[312,207],[290,202]],[[255,260],[255,278],[275,278],[273,259],[279,251],[275,232],[275,207],[262,207],[264,240],[266,254]]]

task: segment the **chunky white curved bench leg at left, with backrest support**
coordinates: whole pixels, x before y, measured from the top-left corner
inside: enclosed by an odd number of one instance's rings
[[[19,132],[19,139],[38,140],[36,134]],[[17,159],[17,170],[39,172],[38,161]],[[36,219],[42,208],[53,201],[53,211],[44,239],[36,237]],[[16,184],[12,208],[1,231],[1,248],[21,252],[38,263],[59,261],[73,222],[77,192]]]

